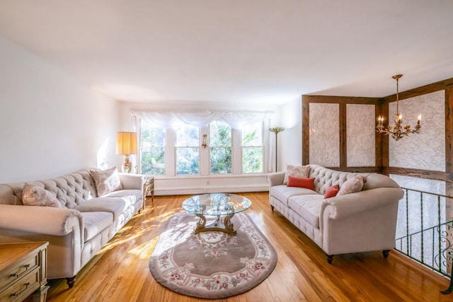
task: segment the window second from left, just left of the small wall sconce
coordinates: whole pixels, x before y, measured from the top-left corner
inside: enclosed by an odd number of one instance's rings
[[[200,168],[200,130],[182,127],[176,130],[176,174],[198,174]]]

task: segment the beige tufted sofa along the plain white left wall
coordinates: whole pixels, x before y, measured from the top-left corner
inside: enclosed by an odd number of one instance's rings
[[[0,243],[48,241],[47,277],[76,274],[143,205],[141,175],[117,174],[121,190],[98,196],[90,173],[32,182],[56,196],[62,207],[23,205],[24,182],[0,185]]]

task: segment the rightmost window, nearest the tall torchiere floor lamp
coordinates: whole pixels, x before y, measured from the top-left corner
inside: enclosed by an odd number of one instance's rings
[[[242,129],[242,173],[263,173],[263,123]]]

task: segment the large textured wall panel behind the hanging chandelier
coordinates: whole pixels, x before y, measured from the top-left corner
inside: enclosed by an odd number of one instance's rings
[[[409,134],[399,141],[389,138],[389,165],[398,168],[445,171],[445,91],[436,91],[400,100],[403,124],[414,127],[421,113],[420,134]],[[396,102],[389,104],[394,125]],[[387,124],[387,122],[384,122]]]

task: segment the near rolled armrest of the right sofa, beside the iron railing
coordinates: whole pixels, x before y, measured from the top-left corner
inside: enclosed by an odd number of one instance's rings
[[[340,195],[323,201],[319,217],[322,219],[323,210],[328,206],[333,207],[333,213],[329,215],[329,219],[344,219],[345,217],[359,214],[363,211],[370,211],[392,202],[399,202],[403,196],[404,191],[396,187],[379,187],[377,189]],[[321,221],[319,223],[321,224]]]

